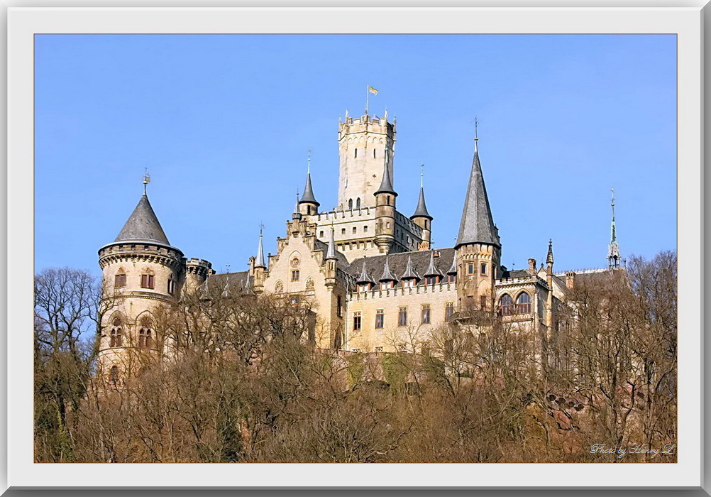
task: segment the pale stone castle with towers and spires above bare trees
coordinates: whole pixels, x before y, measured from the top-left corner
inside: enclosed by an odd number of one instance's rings
[[[306,173],[277,253],[257,254],[245,272],[215,274],[210,262],[187,259],[166,237],[145,190],[116,239],[99,250],[105,296],[117,297],[102,316],[98,365],[116,381],[127,369],[129,349],[166,351],[154,330],[158,306],[208,286],[249,294],[274,294],[314,309],[309,337],[317,347],[378,353],[406,350],[405,337],[456,320],[465,309],[499,314],[543,337],[557,332],[557,309],[585,274],[554,272],[552,242],[545,266],[501,265],[501,242],[493,223],[479,161],[477,138],[456,245],[430,246],[432,215],[424,187],[412,215],[397,210],[393,188],[396,123],[367,112],[339,119],[338,205],[320,210]],[[464,179],[464,178],[462,178]],[[609,267],[618,269],[614,228]],[[306,338],[306,337],[305,337]]]

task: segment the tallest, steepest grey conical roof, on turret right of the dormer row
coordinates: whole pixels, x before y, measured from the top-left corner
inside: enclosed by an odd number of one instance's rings
[[[484,177],[481,173],[476,141],[474,142],[474,161],[471,164],[471,175],[466,190],[464,210],[461,213],[456,247],[466,243],[491,243],[501,247],[486,196],[486,186],[484,186]]]

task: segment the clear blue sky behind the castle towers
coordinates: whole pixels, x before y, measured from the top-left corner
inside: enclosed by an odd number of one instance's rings
[[[338,117],[397,117],[397,208],[419,164],[451,247],[471,168],[474,117],[502,263],[602,267],[610,188],[623,257],[676,247],[676,40],[672,35],[38,35],[36,270],[99,273],[149,198],[171,245],[218,271],[247,268],[304,187],[336,204]]]

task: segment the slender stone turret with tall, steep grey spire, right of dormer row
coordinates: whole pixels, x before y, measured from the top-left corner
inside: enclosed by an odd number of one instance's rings
[[[457,293],[461,306],[491,310],[493,285],[500,270],[501,242],[486,195],[478,140],[478,137],[474,138],[474,160],[454,247],[459,268]]]

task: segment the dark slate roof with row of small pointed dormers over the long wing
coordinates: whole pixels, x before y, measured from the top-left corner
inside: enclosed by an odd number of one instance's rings
[[[439,252],[439,257],[434,259],[434,264],[437,269],[444,274],[444,272],[451,267],[451,262],[454,260],[454,249],[439,249],[437,252]],[[387,263],[390,266],[390,272],[399,278],[400,275],[405,272],[407,257],[409,256],[412,258],[412,269],[414,269],[417,274],[424,274],[427,272],[427,267],[429,266],[430,254],[432,254],[431,250],[387,254]],[[385,255],[375,255],[360,258],[353,261],[353,263],[348,266],[347,271],[354,278],[358,278],[360,277],[360,272],[363,271],[363,262],[365,262],[365,272],[373,278],[373,281],[377,282],[385,268],[385,257]]]

